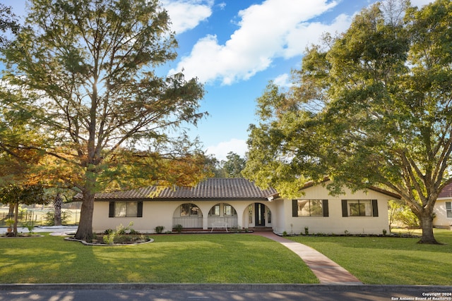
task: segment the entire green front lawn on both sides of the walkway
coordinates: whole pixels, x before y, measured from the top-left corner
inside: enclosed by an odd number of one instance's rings
[[[445,245],[418,238],[287,237],[333,259],[366,284],[451,285]],[[319,283],[292,251],[251,234],[150,235],[155,242],[85,246],[61,237],[0,239],[1,283]]]

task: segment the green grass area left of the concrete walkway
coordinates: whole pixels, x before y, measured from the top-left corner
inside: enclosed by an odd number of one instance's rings
[[[250,234],[151,235],[93,247],[61,237],[0,238],[2,283],[318,283],[278,242]]]

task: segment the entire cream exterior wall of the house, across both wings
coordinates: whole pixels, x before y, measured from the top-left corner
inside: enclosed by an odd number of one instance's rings
[[[322,185],[317,185],[303,190],[304,195],[300,199],[328,199],[329,216],[292,216],[291,199],[273,199],[269,202],[262,200],[245,199],[187,199],[186,201],[144,201],[143,217],[108,217],[109,202],[95,201],[93,212],[93,231],[101,233],[107,229],[115,229],[119,224],[124,226],[133,222],[133,229],[141,233],[154,233],[156,226],[164,226],[165,231],[171,231],[174,224],[173,217],[177,216],[181,204],[192,203],[199,207],[202,214],[202,228],[207,230],[209,225],[208,212],[215,204],[230,204],[237,211],[237,225],[241,228],[253,228],[255,226],[254,204],[266,205],[266,227],[273,228],[275,233],[304,233],[304,228],[309,228],[309,233],[344,234],[381,234],[383,229],[389,233],[388,227],[388,200],[391,197],[379,192],[345,191],[345,195],[332,197]],[[377,199],[379,216],[347,216],[342,215],[342,199]],[[251,222],[249,221],[249,205],[252,206]],[[439,204],[439,203],[438,203]],[[444,204],[444,203],[443,203]],[[446,210],[444,204],[444,212]],[[268,211],[271,213],[271,223],[268,223]],[[201,214],[199,216],[201,216]],[[445,214],[445,213],[444,213]],[[437,216],[441,216],[437,214]],[[450,221],[449,221],[450,222]]]

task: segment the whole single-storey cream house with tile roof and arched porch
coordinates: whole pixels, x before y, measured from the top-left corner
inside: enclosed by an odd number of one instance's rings
[[[323,185],[307,185],[297,199],[284,199],[269,188],[262,190],[244,178],[208,178],[194,188],[155,187],[99,193],[95,196],[93,231],[126,226],[153,233],[156,226],[170,231],[226,231],[230,228],[268,228],[275,233],[381,234],[388,228],[386,190],[332,197]],[[226,228],[227,227],[227,228]]]

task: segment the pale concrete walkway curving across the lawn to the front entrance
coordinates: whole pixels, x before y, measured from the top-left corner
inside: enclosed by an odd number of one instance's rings
[[[307,266],[309,266],[309,269],[314,272],[314,275],[319,278],[321,284],[362,284],[361,281],[350,274],[350,272],[344,269],[342,266],[336,264],[335,262],[333,262],[333,260],[321,254],[321,252],[317,252],[307,245],[303,245],[299,242],[280,237],[273,232],[254,232],[254,234],[280,242],[289,250],[295,252],[295,254],[303,259]]]

